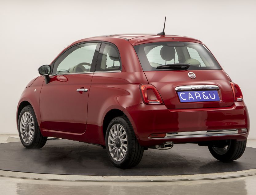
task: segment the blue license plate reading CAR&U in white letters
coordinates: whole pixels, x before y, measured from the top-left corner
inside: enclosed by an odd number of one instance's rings
[[[218,91],[178,91],[180,102],[220,101]]]

